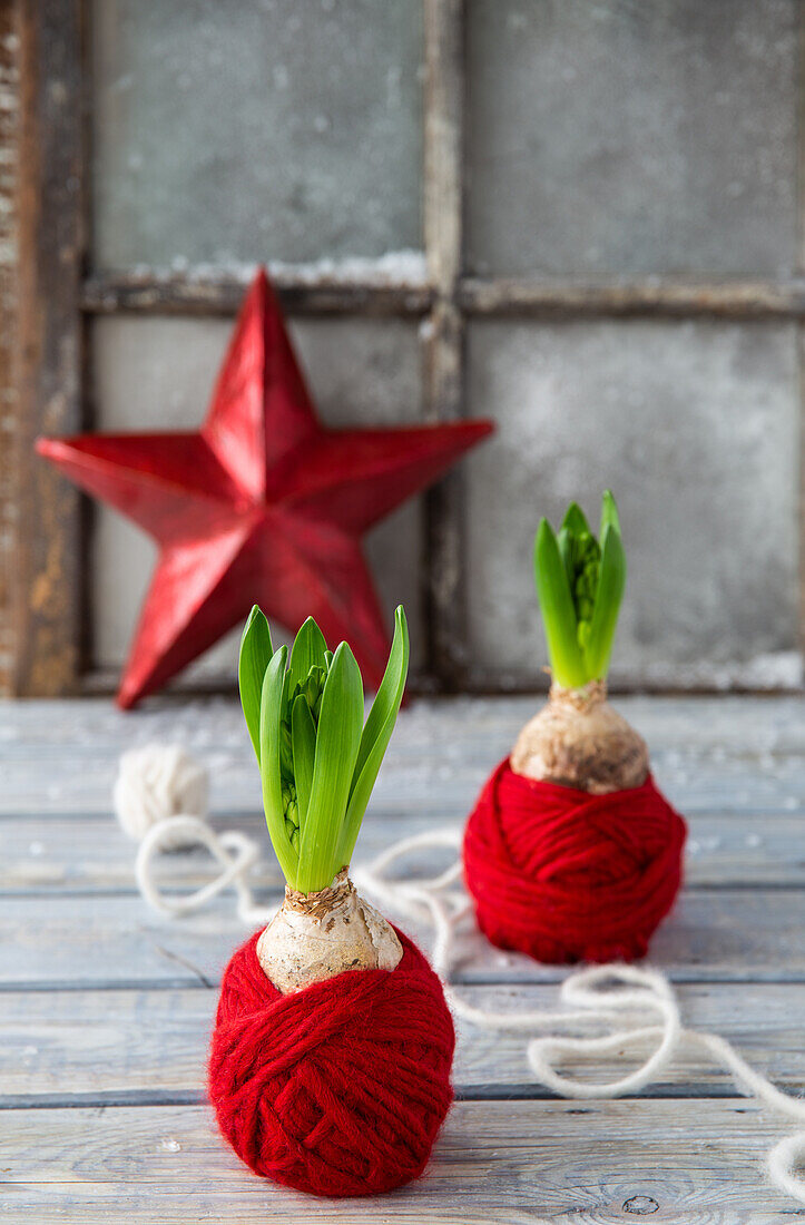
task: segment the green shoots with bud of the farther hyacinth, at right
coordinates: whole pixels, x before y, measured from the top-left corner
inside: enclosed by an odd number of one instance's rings
[[[554,680],[581,688],[605,680],[626,586],[626,555],[615,499],[603,497],[599,539],[576,502],[559,533],[542,519],[534,541],[534,578]]]

